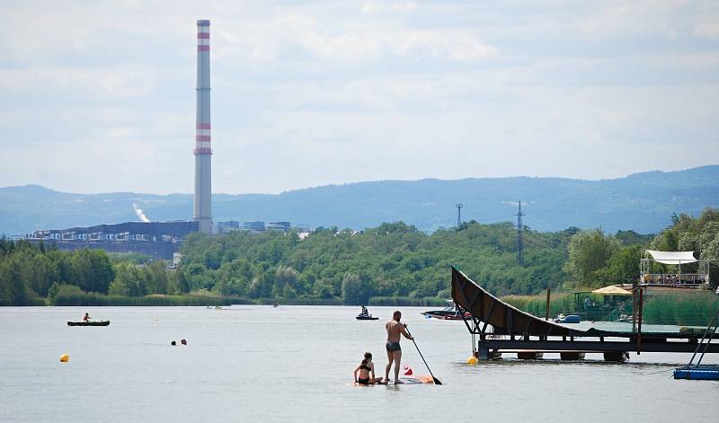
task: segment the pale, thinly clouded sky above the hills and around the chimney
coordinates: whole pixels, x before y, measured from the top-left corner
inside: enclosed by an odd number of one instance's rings
[[[0,186],[606,179],[719,163],[719,2],[0,0]]]

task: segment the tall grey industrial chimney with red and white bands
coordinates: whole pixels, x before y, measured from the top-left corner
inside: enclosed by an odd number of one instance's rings
[[[194,220],[212,233],[212,148],[209,124],[209,21],[197,22],[197,126],[195,134]]]

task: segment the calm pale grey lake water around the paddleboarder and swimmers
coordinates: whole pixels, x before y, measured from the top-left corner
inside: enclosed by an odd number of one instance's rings
[[[719,383],[671,379],[688,355],[466,366],[462,322],[401,310],[445,385],[352,386],[364,351],[384,368],[389,308],[370,308],[376,322],[350,307],[0,308],[0,422],[719,421]],[[111,326],[67,326],[85,311]],[[403,362],[427,374],[402,344]]]

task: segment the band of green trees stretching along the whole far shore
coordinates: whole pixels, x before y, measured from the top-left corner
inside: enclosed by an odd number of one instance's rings
[[[318,228],[297,233],[191,234],[179,269],[138,254],[59,251],[54,246],[0,240],[0,304],[54,304],[58,295],[96,293],[140,297],[209,293],[301,304],[414,304],[450,297],[449,266],[462,269],[495,295],[531,295],[547,287],[572,290],[639,276],[645,249],[699,251],[719,277],[719,211],[673,216],[661,234],[604,234],[571,227],[540,233],[525,227],[523,263],[510,223],[425,234],[402,222],[363,231]],[[690,271],[691,269],[688,269]]]

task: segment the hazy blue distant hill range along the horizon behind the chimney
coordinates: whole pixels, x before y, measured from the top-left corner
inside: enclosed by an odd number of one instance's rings
[[[215,194],[213,215],[215,222],[285,220],[292,225],[354,229],[401,220],[431,232],[456,224],[455,203],[464,204],[463,220],[493,223],[516,220],[519,200],[527,214],[525,224],[539,231],[600,226],[610,233],[655,233],[670,225],[674,213],[696,216],[705,207],[719,207],[719,165],[601,181],[427,179],[328,185],[277,195]],[[190,194],[72,194],[28,185],[0,189],[0,234],[138,220],[133,203],[152,220],[192,216]]]

